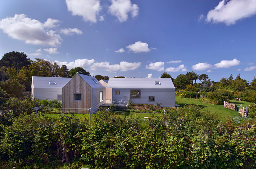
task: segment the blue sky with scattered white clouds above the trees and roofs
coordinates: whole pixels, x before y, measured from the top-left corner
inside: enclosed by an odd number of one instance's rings
[[[1,0],[0,56],[92,75],[256,75],[256,0]]]

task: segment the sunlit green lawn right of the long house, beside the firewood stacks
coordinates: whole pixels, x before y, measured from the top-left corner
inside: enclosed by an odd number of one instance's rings
[[[231,101],[232,103],[238,103],[242,104],[242,107],[248,107],[248,105],[252,104],[250,102],[244,102],[244,101]],[[202,107],[200,111],[209,111],[211,113],[216,113],[220,115],[220,120],[222,122],[225,122],[228,117],[235,117],[238,116],[239,113],[237,111],[233,111],[227,108],[224,108],[224,105],[212,105],[204,102],[200,102],[195,99],[187,99],[187,98],[181,98],[181,97],[175,97],[175,103],[179,104],[180,106],[193,104],[198,105]]]

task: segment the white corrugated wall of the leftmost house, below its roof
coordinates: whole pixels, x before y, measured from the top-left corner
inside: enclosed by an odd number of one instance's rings
[[[34,88],[33,98],[40,100],[58,99],[58,95],[62,95],[62,88]]]

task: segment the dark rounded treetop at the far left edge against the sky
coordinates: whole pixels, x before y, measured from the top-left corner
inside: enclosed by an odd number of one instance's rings
[[[29,67],[31,65],[30,58],[24,52],[5,53],[0,60],[0,67],[14,67],[20,70],[21,67]]]

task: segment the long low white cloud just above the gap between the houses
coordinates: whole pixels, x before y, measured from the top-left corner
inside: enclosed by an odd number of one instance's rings
[[[105,71],[108,72],[115,72],[115,71],[128,71],[128,70],[135,70],[137,68],[139,68],[141,65],[140,62],[125,62],[122,61],[120,62],[120,64],[114,64],[114,65],[109,65],[109,62],[98,62],[98,63],[94,63],[90,69],[91,70],[98,70],[98,69],[103,69]]]

